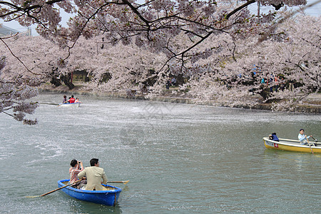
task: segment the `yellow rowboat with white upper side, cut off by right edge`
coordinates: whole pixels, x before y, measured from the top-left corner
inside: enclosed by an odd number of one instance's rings
[[[270,138],[263,138],[266,148],[273,148],[283,151],[297,151],[302,153],[321,153],[321,143],[310,141],[310,145],[301,145],[300,141],[279,138],[279,141],[272,141]],[[315,143],[316,146],[313,145]]]

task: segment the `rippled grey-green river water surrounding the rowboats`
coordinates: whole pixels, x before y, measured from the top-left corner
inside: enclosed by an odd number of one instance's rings
[[[321,116],[178,103],[41,94],[24,126],[0,114],[2,213],[319,213],[321,155],[265,149],[263,136],[321,138]],[[47,103],[47,104],[45,104]],[[99,158],[108,180],[130,180],[116,207],[62,192],[71,159]]]

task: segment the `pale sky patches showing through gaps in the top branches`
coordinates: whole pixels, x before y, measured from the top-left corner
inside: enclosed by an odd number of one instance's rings
[[[320,1],[320,0],[307,0],[307,4],[311,4],[312,2],[316,2],[316,1]],[[256,11],[258,11],[258,6],[257,4],[250,4],[250,6],[248,6],[248,8],[253,11],[253,13],[256,13]],[[260,7],[260,12],[264,13],[269,11],[271,8],[270,7]],[[305,10],[307,14],[311,15],[311,16],[320,16],[321,15],[321,2],[319,2],[318,4],[316,4],[315,6],[312,6],[311,8],[308,8]],[[68,21],[68,14],[63,14],[62,15],[62,24],[63,26],[66,26],[66,21]],[[4,26],[8,26],[11,29],[14,29],[16,31],[27,31],[27,28],[24,26],[19,25],[19,23],[17,21],[11,21],[11,22],[4,22],[2,19],[0,19],[0,23],[4,24]],[[35,31],[35,25],[31,26],[31,31],[32,31],[32,35],[36,35],[36,31]]]

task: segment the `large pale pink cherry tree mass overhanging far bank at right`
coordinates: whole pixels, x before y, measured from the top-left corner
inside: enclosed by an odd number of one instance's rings
[[[320,21],[295,16],[260,44],[220,36],[216,50],[221,57],[198,61],[206,72],[195,74],[182,89],[190,88],[189,94],[199,102],[255,106],[265,101],[273,109],[293,111],[302,98],[320,92]]]

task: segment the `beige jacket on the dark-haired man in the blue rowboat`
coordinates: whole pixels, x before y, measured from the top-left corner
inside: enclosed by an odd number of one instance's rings
[[[86,167],[78,174],[78,178],[87,178],[86,190],[103,190],[103,185],[101,185],[101,178],[103,178],[103,184],[107,183],[107,177],[103,168],[98,166]]]

